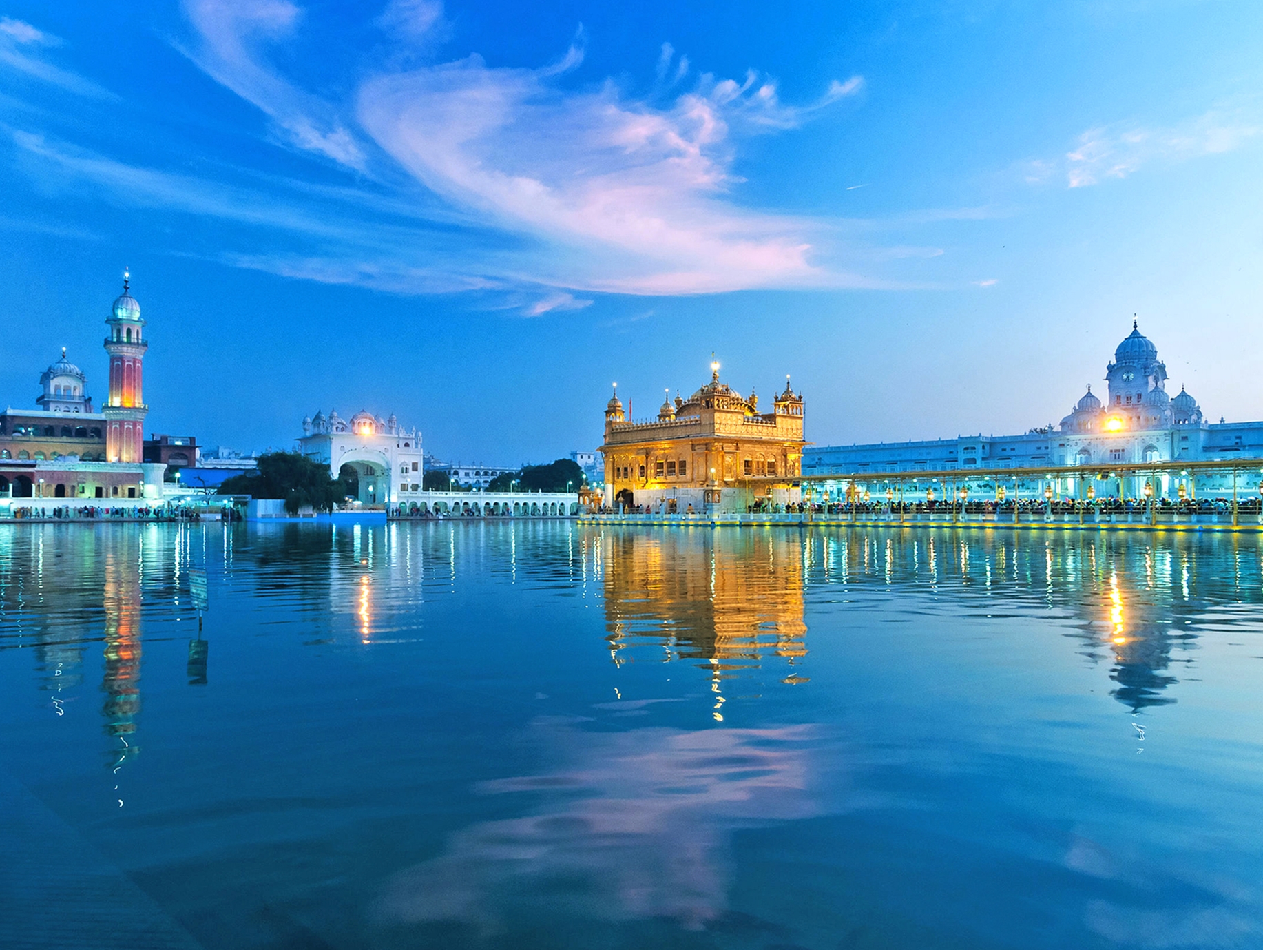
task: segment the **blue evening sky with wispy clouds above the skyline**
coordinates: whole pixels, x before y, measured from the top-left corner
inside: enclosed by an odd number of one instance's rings
[[[1263,418],[1263,5],[0,6],[0,402],[105,392],[285,446],[394,412],[442,457],[599,445],[787,373],[818,443],[1060,419],[1137,313]],[[1172,385],[1173,384],[1173,385]]]

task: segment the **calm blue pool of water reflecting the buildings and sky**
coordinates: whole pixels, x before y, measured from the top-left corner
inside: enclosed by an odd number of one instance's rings
[[[1260,604],[1254,537],[4,526],[0,923],[1263,946]]]

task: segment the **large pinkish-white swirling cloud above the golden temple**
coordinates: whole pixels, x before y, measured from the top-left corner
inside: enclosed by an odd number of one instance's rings
[[[661,106],[614,82],[563,91],[551,75],[476,56],[383,75],[361,86],[359,119],[450,201],[584,249],[584,267],[558,275],[571,286],[652,294],[832,282],[810,259],[812,222],[729,198],[730,126],[793,128],[810,109],[783,106],[753,73],[702,77]]]

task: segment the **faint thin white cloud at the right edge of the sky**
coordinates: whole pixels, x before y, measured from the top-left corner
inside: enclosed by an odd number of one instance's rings
[[[1218,107],[1167,128],[1115,123],[1087,129],[1060,160],[1038,159],[1026,167],[1028,182],[1063,176],[1071,188],[1127,178],[1154,162],[1185,162],[1240,148],[1263,131],[1257,109]]]

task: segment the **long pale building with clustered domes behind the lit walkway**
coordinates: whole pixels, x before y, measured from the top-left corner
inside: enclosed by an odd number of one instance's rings
[[[1181,388],[1166,392],[1167,368],[1133,322],[1105,369],[1106,398],[1087,392],[1057,426],[1019,436],[957,436],[918,442],[818,446],[803,457],[806,475],[880,475],[960,469],[1041,469],[1062,465],[1263,457],[1263,422],[1207,423]]]

